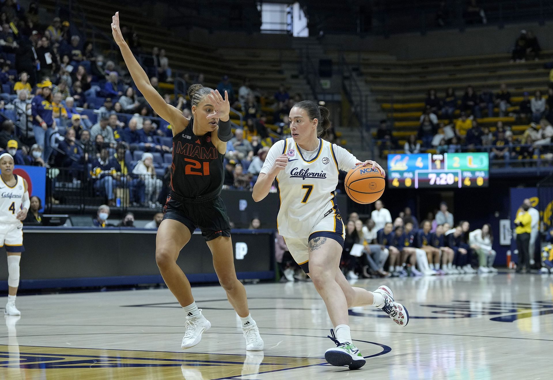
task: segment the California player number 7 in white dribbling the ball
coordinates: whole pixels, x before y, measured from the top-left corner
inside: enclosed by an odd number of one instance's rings
[[[345,231],[333,195],[338,171],[356,165],[373,165],[384,171],[376,162],[359,162],[347,150],[319,138],[328,128],[325,107],[311,101],[296,103],[290,110],[292,137],[271,147],[252,196],[255,202],[262,200],[276,180],[280,193],[279,234],[284,236],[294,260],[311,277],[334,326],[329,337],[337,347],[328,349],[325,358],[333,366],[357,369],[365,359],[352,343],[348,308],[375,306],[400,326],[408,324],[409,314],[394,301],[387,286],[374,292],[353,288],[340,271]]]

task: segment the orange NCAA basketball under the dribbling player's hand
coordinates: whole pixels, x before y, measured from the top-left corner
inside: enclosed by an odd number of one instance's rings
[[[386,184],[382,173],[372,165],[354,167],[344,182],[349,198],[361,204],[375,202],[382,196]]]

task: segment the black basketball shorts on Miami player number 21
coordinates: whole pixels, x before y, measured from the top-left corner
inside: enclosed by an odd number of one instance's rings
[[[205,241],[231,236],[231,225],[221,196],[188,199],[171,191],[163,214],[164,220],[173,219],[187,226],[190,234],[200,228]]]

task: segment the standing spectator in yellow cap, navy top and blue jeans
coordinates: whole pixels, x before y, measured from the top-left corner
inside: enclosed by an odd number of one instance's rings
[[[42,89],[42,93],[35,95],[31,102],[33,131],[36,144],[43,148],[44,159],[48,161],[52,150],[50,147],[50,136],[58,128],[53,117],[52,82],[44,81],[38,87]]]

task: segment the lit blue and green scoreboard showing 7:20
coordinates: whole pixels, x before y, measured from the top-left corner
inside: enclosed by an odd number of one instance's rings
[[[486,187],[488,153],[389,154],[387,177],[392,188]]]

